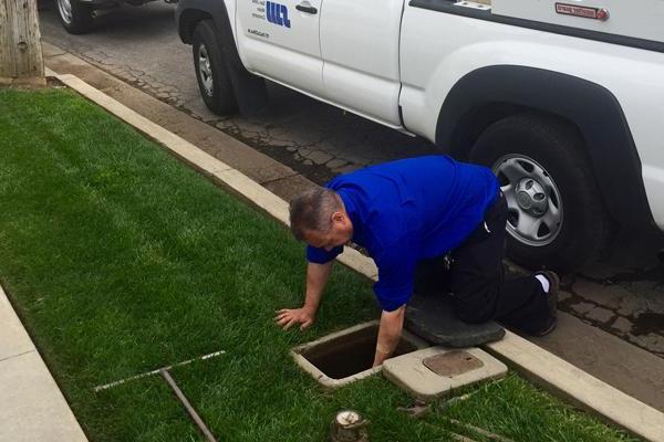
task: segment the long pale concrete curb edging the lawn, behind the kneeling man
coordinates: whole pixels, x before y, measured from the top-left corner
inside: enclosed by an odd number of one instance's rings
[[[157,140],[218,185],[258,206],[283,224],[290,224],[288,203],[246,175],[201,152],[196,146],[151,123],[77,77],[56,75],[56,78]],[[352,249],[345,248],[339,261],[374,281],[377,277],[373,261]],[[542,387],[556,393],[564,392],[567,399],[583,404],[588,410],[641,438],[664,442],[664,413],[622,393],[537,345],[515,334],[508,334],[504,340],[486,348]]]

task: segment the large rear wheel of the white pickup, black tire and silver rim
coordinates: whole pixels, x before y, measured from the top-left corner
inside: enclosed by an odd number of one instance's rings
[[[602,251],[611,223],[583,149],[568,124],[531,114],[494,123],[475,143],[470,160],[490,167],[501,186],[511,183],[504,189],[515,262],[568,272]]]

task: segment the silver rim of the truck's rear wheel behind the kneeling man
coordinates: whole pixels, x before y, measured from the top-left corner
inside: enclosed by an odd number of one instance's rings
[[[492,167],[507,200],[507,231],[530,246],[548,245],[562,228],[560,190],[551,175],[525,155],[506,155]]]

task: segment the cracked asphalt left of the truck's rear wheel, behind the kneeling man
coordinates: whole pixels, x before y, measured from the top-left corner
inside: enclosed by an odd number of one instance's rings
[[[54,3],[41,0],[44,38],[82,55],[107,72],[139,86],[234,137],[308,169],[317,181],[347,169],[392,158],[435,152],[427,140],[384,128],[353,114],[270,84],[270,107],[252,117],[219,117],[204,105],[191,61],[191,46],[179,41],[174,6],[153,2],[124,7],[97,20],[89,35],[69,35],[56,20]]]

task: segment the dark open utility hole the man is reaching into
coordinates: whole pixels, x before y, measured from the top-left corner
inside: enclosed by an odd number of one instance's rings
[[[312,344],[299,352],[326,377],[342,379],[372,368],[377,339],[378,325],[372,324],[333,339]],[[404,334],[392,357],[419,348],[413,338]]]

